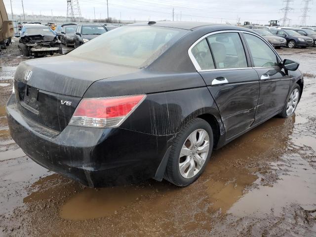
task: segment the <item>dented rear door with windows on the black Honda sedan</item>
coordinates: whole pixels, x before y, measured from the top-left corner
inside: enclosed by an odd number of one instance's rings
[[[249,128],[255,119],[259,78],[239,33],[210,33],[193,44],[190,52],[221,113],[226,139]]]

